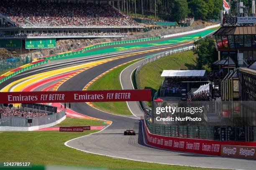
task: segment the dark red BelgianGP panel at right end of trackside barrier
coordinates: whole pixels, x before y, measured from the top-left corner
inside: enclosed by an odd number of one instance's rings
[[[221,145],[221,156],[243,159],[256,159],[256,147]]]

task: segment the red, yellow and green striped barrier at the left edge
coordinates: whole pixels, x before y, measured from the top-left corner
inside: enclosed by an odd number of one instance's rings
[[[36,67],[41,64],[45,64],[47,62],[49,62],[49,60],[45,60],[45,59],[37,60],[37,61],[31,62],[29,64],[17,67],[13,70],[10,70],[0,76],[0,83],[4,82],[5,80],[9,79],[10,77],[13,77],[13,76],[19,74],[20,72],[26,71],[28,69],[31,69],[31,68]]]

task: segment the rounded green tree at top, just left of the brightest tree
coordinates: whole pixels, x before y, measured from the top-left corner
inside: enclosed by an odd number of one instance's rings
[[[172,18],[174,21],[180,22],[187,18],[189,12],[187,0],[174,0],[172,11]]]

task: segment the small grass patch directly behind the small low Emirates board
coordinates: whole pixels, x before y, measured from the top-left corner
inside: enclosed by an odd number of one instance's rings
[[[101,120],[88,120],[84,121],[85,119],[80,119],[76,117],[67,117],[58,125],[59,126],[107,126],[108,124]]]

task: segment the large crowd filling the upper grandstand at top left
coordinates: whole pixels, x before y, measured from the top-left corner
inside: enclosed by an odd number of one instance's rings
[[[17,25],[138,25],[107,4],[0,1],[0,12]]]

